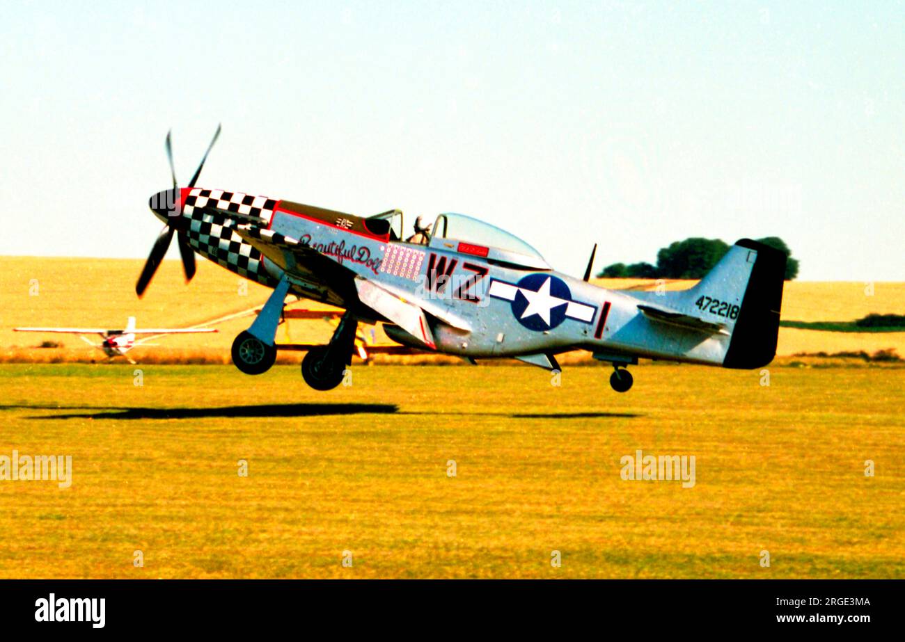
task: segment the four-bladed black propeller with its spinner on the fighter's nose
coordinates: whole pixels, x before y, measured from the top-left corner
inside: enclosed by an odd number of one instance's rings
[[[189,187],[195,187],[198,176],[201,175],[201,170],[205,166],[207,155],[211,153],[211,148],[220,136],[220,129],[221,127],[218,125],[217,130],[214,133],[214,138],[211,139],[211,144],[207,146],[205,156],[202,157],[201,163],[195,170],[195,175],[192,176],[192,180],[188,184]],[[154,194],[148,202],[151,211],[157,214],[157,217],[167,224],[157,236],[157,241],[154,241],[154,247],[151,248],[151,253],[148,255],[145,267],[141,270],[138,282],[135,284],[135,292],[138,294],[138,297],[145,294],[148,283],[154,278],[154,274],[157,272],[160,261],[164,260],[164,256],[167,254],[167,249],[169,249],[170,242],[173,241],[174,234],[176,234],[176,242],[179,245],[179,256],[182,257],[182,269],[186,274],[186,283],[195,276],[195,252],[188,244],[186,222],[185,219],[182,218],[182,212],[179,210],[179,187],[178,182],[176,181],[176,167],[173,164],[173,145],[170,141],[170,135],[171,132],[167,132],[167,159],[169,160],[170,165],[170,175],[173,178],[173,187],[172,189],[163,190]]]

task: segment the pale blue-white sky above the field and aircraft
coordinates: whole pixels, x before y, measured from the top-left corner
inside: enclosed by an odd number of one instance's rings
[[[905,4],[0,4],[0,255],[146,257],[170,186],[462,212],[580,276],[779,236],[905,280]],[[176,258],[176,243],[170,258]]]

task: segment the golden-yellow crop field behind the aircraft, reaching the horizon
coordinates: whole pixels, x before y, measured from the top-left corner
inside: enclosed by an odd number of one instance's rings
[[[199,261],[198,273],[185,284],[176,260],[164,261],[143,299],[135,296],[135,279],[142,260],[0,258],[0,357],[10,360],[64,362],[103,360],[102,354],[77,336],[23,335],[14,326],[120,327],[127,316],[139,326],[190,326],[261,306],[270,290],[233,275],[208,261]],[[596,279],[606,288],[653,289],[644,279]],[[693,281],[672,280],[666,288],[689,288]],[[325,308],[312,301],[297,307]],[[905,313],[905,283],[798,282],[786,283],[782,318],[795,321],[849,321],[870,313]],[[233,338],[248,327],[246,316],[216,326],[211,335],[170,335],[154,348],[137,348],[138,359],[228,363]],[[332,326],[319,320],[292,320],[281,328],[281,343],[320,343],[329,339]],[[367,328],[369,331],[369,328]],[[43,340],[62,342],[62,350],[35,350]],[[376,329],[378,343],[391,343]],[[782,328],[777,354],[868,353],[892,348],[905,356],[905,332],[828,333]],[[298,355],[285,355],[294,362]]]

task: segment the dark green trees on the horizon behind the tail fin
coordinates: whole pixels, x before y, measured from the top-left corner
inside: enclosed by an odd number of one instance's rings
[[[786,280],[798,276],[798,260],[792,258],[786,241],[777,236],[757,239],[758,242],[776,248],[786,255]],[[603,279],[702,279],[710,272],[723,255],[729,251],[729,244],[719,239],[698,237],[672,242],[657,252],[657,264],[614,263],[597,274]]]

